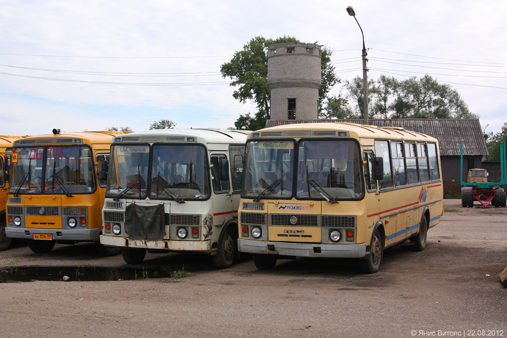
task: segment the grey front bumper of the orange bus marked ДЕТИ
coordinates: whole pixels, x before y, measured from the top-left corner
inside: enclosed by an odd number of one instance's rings
[[[55,241],[96,241],[98,229],[38,229],[6,227],[5,233],[10,238],[33,239],[34,235],[51,235]]]

